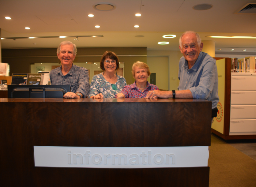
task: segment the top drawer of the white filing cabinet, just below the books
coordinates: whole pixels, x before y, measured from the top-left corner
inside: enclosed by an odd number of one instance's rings
[[[256,90],[256,76],[231,76],[231,89]]]

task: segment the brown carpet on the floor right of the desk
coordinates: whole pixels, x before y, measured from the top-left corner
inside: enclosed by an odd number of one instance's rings
[[[256,160],[211,137],[209,187],[256,187]]]

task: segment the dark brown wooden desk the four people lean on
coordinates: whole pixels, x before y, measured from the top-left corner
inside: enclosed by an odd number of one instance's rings
[[[0,99],[1,186],[209,186],[209,167],[34,167],[33,146],[211,145],[199,99]]]

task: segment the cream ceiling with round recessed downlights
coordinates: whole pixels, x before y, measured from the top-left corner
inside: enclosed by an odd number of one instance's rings
[[[256,37],[256,14],[234,14],[255,0],[104,0],[115,6],[98,11],[100,0],[0,0],[1,37],[82,36],[103,37],[2,39],[2,48],[57,47],[70,40],[77,47],[147,47],[147,50],[179,50],[179,37],[187,30],[202,40],[214,40],[216,51],[256,52],[256,39],[209,38],[209,35]],[[197,11],[197,4],[211,4]],[[140,17],[135,14],[140,13]],[[88,17],[94,14],[94,17]],[[11,20],[5,19],[6,16]],[[95,28],[99,25],[100,28]],[[139,28],[134,28],[139,25]],[[30,27],[26,30],[25,27]],[[174,34],[175,38],[163,38]],[[143,35],[144,37],[135,37]],[[168,41],[168,45],[159,45]]]

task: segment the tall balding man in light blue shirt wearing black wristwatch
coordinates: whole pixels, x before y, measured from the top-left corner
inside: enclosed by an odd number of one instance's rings
[[[203,43],[193,31],[181,35],[179,48],[183,54],[179,62],[179,90],[154,90],[148,92],[146,98],[204,99],[212,101],[212,108],[216,108],[219,102],[216,60],[201,52]]]

